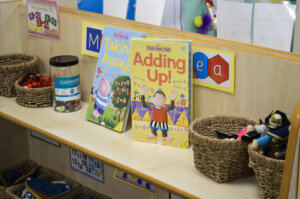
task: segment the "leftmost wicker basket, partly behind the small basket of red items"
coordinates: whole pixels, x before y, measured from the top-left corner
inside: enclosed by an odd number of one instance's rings
[[[15,81],[24,74],[37,72],[37,57],[24,54],[0,55],[0,95],[16,96]]]

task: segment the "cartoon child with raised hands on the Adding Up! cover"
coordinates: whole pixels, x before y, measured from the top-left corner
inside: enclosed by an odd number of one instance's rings
[[[149,140],[155,140],[157,137],[157,130],[162,131],[162,137],[164,141],[172,142],[173,138],[168,136],[168,112],[174,109],[175,101],[179,95],[177,91],[171,90],[169,99],[171,100],[170,107],[167,107],[166,101],[167,97],[164,94],[162,90],[158,90],[153,95],[153,105],[148,105],[145,101],[145,95],[147,94],[147,91],[149,88],[147,85],[141,85],[141,100],[143,107],[147,108],[148,110],[151,110],[151,122],[150,122],[150,128],[151,133],[150,135],[147,135],[147,138]]]

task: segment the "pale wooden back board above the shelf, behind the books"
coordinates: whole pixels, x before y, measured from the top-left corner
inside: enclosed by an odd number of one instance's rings
[[[26,20],[24,18],[25,9],[20,7],[20,30],[22,51],[35,54],[40,59],[42,72],[49,72],[48,60],[50,57],[60,54],[74,54],[79,57],[82,99],[87,101],[93,81],[97,59],[81,54],[81,23],[90,20],[101,24],[115,24],[117,19],[92,15],[78,11],[78,15],[73,15],[69,9],[62,9],[61,12],[61,41],[39,38],[27,35]],[[70,12],[70,13],[69,13]],[[74,11],[75,12],[75,11]],[[122,21],[123,22],[123,21]],[[133,22],[124,21],[130,28],[140,32],[148,33],[152,36],[167,37],[165,33],[158,32],[156,27],[144,27],[143,24],[132,26]],[[125,24],[126,25],[126,24]],[[124,24],[122,23],[122,25]],[[127,26],[125,26],[126,28]],[[127,27],[129,28],[129,27]],[[166,30],[170,34],[170,30]],[[175,32],[177,33],[177,32]],[[173,38],[190,37],[173,33]],[[190,34],[186,33],[190,36]],[[234,52],[235,58],[235,93],[229,94],[222,91],[213,90],[194,85],[194,116],[203,117],[216,114],[234,114],[248,116],[253,119],[264,118],[273,109],[280,109],[288,115],[292,115],[296,103],[299,100],[300,87],[297,80],[300,79],[300,58],[292,54],[268,51],[266,49],[254,47],[241,48],[232,45],[224,47],[224,41],[215,40],[214,45],[211,39],[196,38],[194,44],[206,48],[214,48]],[[229,45],[230,43],[227,43]]]

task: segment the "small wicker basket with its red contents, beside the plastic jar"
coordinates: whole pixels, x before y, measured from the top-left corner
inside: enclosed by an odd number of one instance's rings
[[[31,108],[52,106],[53,87],[50,75],[28,73],[15,82],[15,87],[19,105]]]

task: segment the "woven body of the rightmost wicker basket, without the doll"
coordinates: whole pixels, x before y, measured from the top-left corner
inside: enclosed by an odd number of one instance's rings
[[[269,158],[254,151],[250,146],[249,166],[253,168],[262,198],[279,198],[284,160]]]

